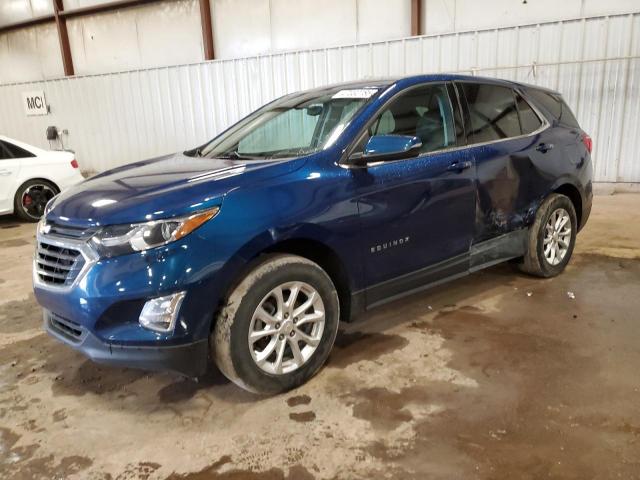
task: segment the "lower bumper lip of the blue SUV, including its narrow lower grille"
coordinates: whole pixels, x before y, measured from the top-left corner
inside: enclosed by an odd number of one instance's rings
[[[127,346],[100,340],[82,325],[44,310],[49,335],[82,352],[91,360],[112,366],[169,371],[187,377],[204,375],[209,364],[209,342],[200,340],[170,346]]]

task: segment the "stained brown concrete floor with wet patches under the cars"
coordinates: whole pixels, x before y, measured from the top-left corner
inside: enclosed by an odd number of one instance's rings
[[[49,339],[33,230],[0,220],[2,478],[640,478],[640,195],[596,197],[560,277],[503,265],[395,302],[273,398]]]

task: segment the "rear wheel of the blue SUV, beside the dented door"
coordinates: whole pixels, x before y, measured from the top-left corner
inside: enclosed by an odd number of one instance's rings
[[[568,220],[563,224],[565,217]],[[555,225],[558,224],[563,226],[556,230]],[[520,270],[543,278],[559,275],[571,259],[577,233],[578,221],[571,200],[557,193],[549,195],[538,208],[533,225],[529,228],[528,249],[519,265]],[[558,249],[552,252],[554,246]]]

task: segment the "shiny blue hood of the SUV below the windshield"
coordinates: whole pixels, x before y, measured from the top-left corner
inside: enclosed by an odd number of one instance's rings
[[[185,215],[220,205],[229,191],[284,175],[303,163],[166,155],[106,171],[65,190],[46,217],[86,228]]]

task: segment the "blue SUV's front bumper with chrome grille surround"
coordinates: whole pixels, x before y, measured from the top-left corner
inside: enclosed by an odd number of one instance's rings
[[[71,280],[55,285],[40,278],[36,252],[34,293],[45,310],[45,329],[96,362],[190,377],[204,374],[211,322],[226,282],[218,274],[222,262],[212,258],[210,237],[202,233],[113,258],[97,258],[86,240],[39,233],[38,245],[80,252],[79,263],[70,269]],[[146,301],[178,291],[186,296],[173,331],[162,333],[140,325]],[[51,318],[61,323],[54,325]]]

